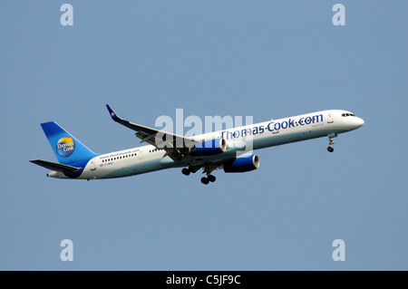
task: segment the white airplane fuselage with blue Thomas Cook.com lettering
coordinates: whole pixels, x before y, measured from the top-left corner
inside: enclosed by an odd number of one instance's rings
[[[227,150],[214,156],[195,157],[190,164],[200,165],[209,161],[230,159],[236,156],[239,150],[244,149],[262,149],[300,140],[334,137],[339,133],[355,130],[363,124],[364,120],[355,117],[349,111],[332,110],[219,130],[193,138],[195,140],[224,139],[227,141]],[[78,178],[121,178],[187,165],[186,161],[175,162],[164,155],[165,150],[157,149],[152,145],[98,155],[88,162]],[[50,172],[48,176],[67,178],[62,172],[57,171]]]

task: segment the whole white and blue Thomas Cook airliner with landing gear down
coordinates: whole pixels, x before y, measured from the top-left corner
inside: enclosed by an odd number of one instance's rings
[[[51,169],[47,177],[87,180],[129,177],[170,168],[182,168],[182,174],[189,176],[203,169],[205,177],[201,182],[208,185],[216,180],[212,174],[215,169],[227,173],[257,169],[259,158],[252,153],[255,149],[328,137],[327,150],[333,152],[333,139],[338,134],[364,125],[364,120],[350,111],[330,110],[185,137],[122,120],[108,104],[106,107],[112,120],[136,131],[136,137],[148,145],[99,155],[56,122],[49,121],[41,126],[59,163],[30,161]],[[239,154],[243,148],[250,150]]]

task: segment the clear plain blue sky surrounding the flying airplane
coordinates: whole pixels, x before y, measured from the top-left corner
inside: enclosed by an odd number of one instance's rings
[[[2,270],[407,270],[406,1],[2,1]],[[333,5],[345,5],[335,26]],[[326,109],[365,125],[261,149],[259,169],[46,178],[55,120],[97,153],[139,145],[114,123]],[[73,241],[73,262],[60,243]],[[345,261],[335,262],[335,239]]]

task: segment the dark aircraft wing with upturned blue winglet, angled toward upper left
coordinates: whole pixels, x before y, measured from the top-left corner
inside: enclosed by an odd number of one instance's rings
[[[191,147],[198,143],[199,141],[192,140],[186,137],[182,137],[170,132],[164,132],[149,127],[142,126],[140,124],[132,123],[128,120],[122,120],[112,108],[106,104],[109,113],[111,114],[112,120],[119,122],[121,125],[136,131],[136,137],[141,139],[141,142],[146,141],[147,143],[155,146],[158,149],[164,149],[166,154],[163,156],[169,156],[174,161],[180,161],[181,159],[189,155],[189,147],[186,144],[190,144]],[[176,144],[181,144],[176,146]]]

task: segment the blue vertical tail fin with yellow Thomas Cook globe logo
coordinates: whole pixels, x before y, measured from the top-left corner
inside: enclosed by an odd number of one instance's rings
[[[85,147],[81,141],[76,140],[73,135],[63,130],[55,122],[44,122],[41,127],[50,142],[51,148],[53,148],[53,153],[61,164],[83,163],[97,156],[91,149]]]

